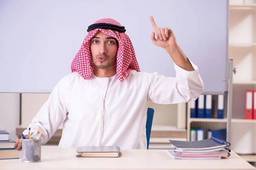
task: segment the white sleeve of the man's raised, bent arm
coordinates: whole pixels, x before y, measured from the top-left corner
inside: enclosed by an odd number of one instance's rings
[[[148,90],[148,101],[158,104],[189,102],[198,98],[204,90],[198,68],[191,62],[194,71],[186,71],[174,63],[176,77],[154,73]]]

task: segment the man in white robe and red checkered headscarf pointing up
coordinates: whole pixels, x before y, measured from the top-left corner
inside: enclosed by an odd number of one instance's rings
[[[151,40],[170,54],[177,76],[140,72],[125,27],[112,19],[96,21],[88,27],[72,73],[58,82],[29,125],[31,131],[42,131],[42,144],[63,123],[59,147],[146,149],[149,102],[174,104],[198,98],[204,85],[197,66],[183,54],[171,29],[158,28],[153,17],[150,20],[155,30]],[[15,147],[21,146],[17,139]]]

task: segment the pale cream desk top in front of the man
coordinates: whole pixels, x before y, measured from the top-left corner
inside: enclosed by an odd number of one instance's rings
[[[19,154],[21,156],[21,151]],[[75,148],[42,146],[41,162],[24,163],[21,159],[0,160],[0,169],[255,169],[234,152],[228,159],[215,160],[173,159],[166,150],[122,150],[122,157],[119,158],[78,158],[75,155]]]

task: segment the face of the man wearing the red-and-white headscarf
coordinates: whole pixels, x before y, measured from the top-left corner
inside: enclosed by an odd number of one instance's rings
[[[117,40],[101,31],[90,40],[90,51],[97,68],[106,69],[115,66],[117,50]]]

